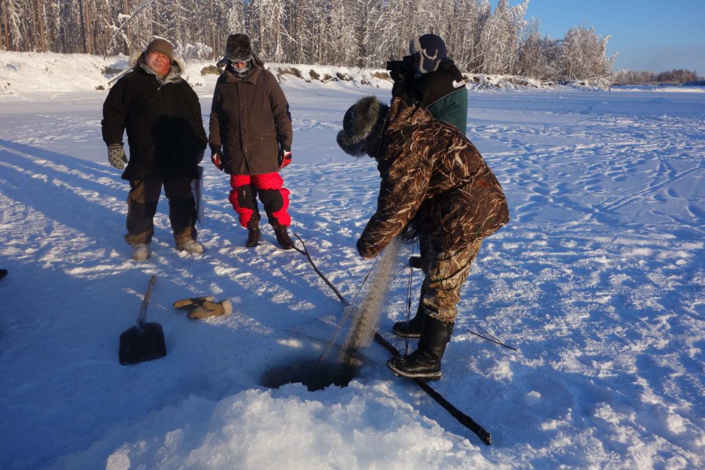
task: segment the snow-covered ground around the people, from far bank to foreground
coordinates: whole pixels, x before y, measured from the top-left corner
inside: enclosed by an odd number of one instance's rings
[[[207,252],[174,251],[163,200],[155,256],[131,261],[128,185],[106,161],[106,92],[95,89],[106,80],[90,61],[116,62],[0,52],[10,83],[0,87],[0,268],[10,271],[0,280],[0,468],[705,466],[702,87],[470,92],[467,134],[512,221],[483,245],[432,385],[492,433],[487,447],[393,376],[376,344],[347,387],[268,387],[309,375],[333,334],[321,319],[343,307],[269,226],[259,247],[243,246],[227,178],[209,163]],[[190,72],[204,123],[214,80]],[[355,241],[379,175],[335,136],[355,99],[389,99],[389,87],[292,75],[283,89],[293,232],[353,299],[372,267]],[[405,316],[409,254],[382,332]],[[163,326],[168,354],[121,366],[118,336],[152,275],[148,321]],[[171,307],[207,294],[230,299],[233,314],[192,321]],[[480,328],[517,352],[470,333]]]

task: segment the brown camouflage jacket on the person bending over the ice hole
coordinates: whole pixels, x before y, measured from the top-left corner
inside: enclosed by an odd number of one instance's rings
[[[453,126],[397,98],[377,132],[367,149],[382,180],[377,210],[357,243],[362,256],[376,256],[405,230],[422,246],[455,252],[509,221],[494,173]]]

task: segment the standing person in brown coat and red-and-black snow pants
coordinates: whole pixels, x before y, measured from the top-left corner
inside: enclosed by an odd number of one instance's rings
[[[277,242],[292,249],[289,190],[279,174],[291,162],[289,104],[274,75],[252,53],[247,35],[228,36],[221,63],[225,70],[216,82],[209,125],[211,160],[231,175],[228,200],[247,228],[245,245],[255,247],[262,240],[259,197]]]

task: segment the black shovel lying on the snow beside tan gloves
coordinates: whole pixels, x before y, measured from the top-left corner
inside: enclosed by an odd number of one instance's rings
[[[137,364],[138,362],[152,361],[166,356],[164,344],[164,331],[159,323],[146,323],[147,304],[152,297],[152,288],[157,282],[157,276],[152,276],[147,286],[147,293],[142,299],[140,314],[137,315],[137,324],[128,328],[120,335],[120,364]]]

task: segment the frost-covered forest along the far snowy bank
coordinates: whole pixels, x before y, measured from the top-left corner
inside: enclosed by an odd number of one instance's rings
[[[489,0],[0,0],[0,49],[130,54],[158,36],[183,58],[216,59],[228,34],[247,32],[264,61],[382,68],[431,32],[467,73],[658,81],[651,72],[613,74],[609,36],[594,28],[541,36],[539,20],[525,19],[528,4],[499,0],[492,11]],[[665,81],[696,78],[673,70]]]

